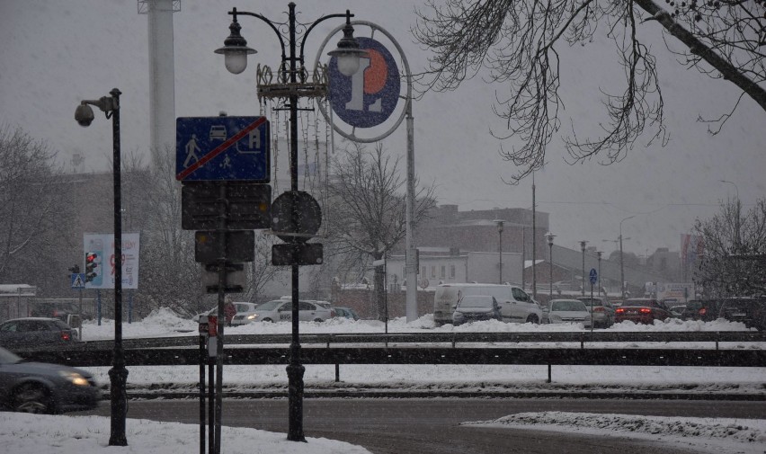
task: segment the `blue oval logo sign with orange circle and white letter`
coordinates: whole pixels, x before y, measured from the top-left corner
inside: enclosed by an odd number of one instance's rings
[[[337,58],[330,58],[330,104],[347,124],[372,128],[388,120],[396,109],[401,88],[399,69],[391,52],[377,40],[357,40],[368,57],[360,59],[356,74],[343,76]]]

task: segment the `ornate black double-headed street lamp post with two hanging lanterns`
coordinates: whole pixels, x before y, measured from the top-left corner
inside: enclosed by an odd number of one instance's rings
[[[328,93],[327,85],[317,83],[321,77],[307,77],[307,70],[304,67],[304,45],[308,34],[319,23],[327,19],[344,17],[346,19],[343,27],[343,38],[338,42],[338,48],[328,52],[328,55],[337,58],[338,71],[343,76],[353,76],[360,66],[360,58],[367,55],[367,52],[361,50],[359,42],[353,37],[353,27],[351,18],[353,14],[346,10],[345,13],[326,14],[311,24],[299,23],[296,18],[295,4],[288,4],[288,22],[272,22],[259,13],[238,12],[233,8],[228,14],[232,16],[232,22],[229,25],[230,35],[224,41],[224,47],[216,49],[216,53],[224,54],[225,64],[229,72],[239,74],[245,71],[247,67],[247,55],[254,54],[255,50],[247,47],[247,41],[240,34],[242,27],[236,21],[237,15],[252,16],[266,22],[269,27],[277,34],[281,45],[281,65],[277,71],[277,82],[272,84],[270,78],[258,77],[258,96],[267,98],[281,98],[289,102],[289,176],[290,191],[298,192],[298,100],[305,97],[325,97]],[[298,43],[297,27],[304,27],[302,37]],[[287,49],[285,49],[285,39],[287,39]],[[300,46],[297,53],[298,45]],[[299,67],[298,67],[299,64]],[[316,68],[316,72],[322,70]],[[271,74],[271,69],[268,70]],[[293,204],[290,217],[293,226],[299,225],[298,204]],[[306,441],[303,434],[303,375],[306,368],[300,363],[300,342],[298,335],[298,265],[292,267],[292,336],[289,345],[289,365],[288,374],[288,440]],[[219,440],[219,434],[216,441]]]

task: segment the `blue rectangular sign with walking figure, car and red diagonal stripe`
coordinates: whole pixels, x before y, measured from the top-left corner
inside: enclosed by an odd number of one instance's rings
[[[266,117],[179,117],[175,179],[270,182],[270,139]]]

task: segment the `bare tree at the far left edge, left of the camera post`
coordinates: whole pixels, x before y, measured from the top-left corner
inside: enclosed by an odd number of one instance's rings
[[[58,252],[73,204],[55,157],[23,129],[0,129],[0,282],[66,280]]]

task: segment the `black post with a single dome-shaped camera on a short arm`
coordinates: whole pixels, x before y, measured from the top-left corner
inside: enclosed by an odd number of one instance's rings
[[[122,209],[120,191],[120,90],[112,88],[111,96],[98,100],[84,100],[75,110],[75,120],[82,127],[90,126],[94,120],[91,105],[101,109],[106,118],[111,118],[113,155],[111,159],[114,179],[114,349],[109,369],[111,398],[110,446],[127,446],[125,417],[128,413],[128,369],[125,369],[125,354],[122,350]],[[90,105],[89,105],[90,104]]]

